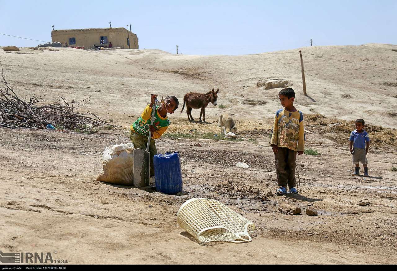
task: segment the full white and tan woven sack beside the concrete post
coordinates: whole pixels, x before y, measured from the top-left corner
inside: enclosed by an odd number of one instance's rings
[[[103,169],[97,181],[119,185],[134,183],[134,145],[132,143],[110,145],[103,153]]]

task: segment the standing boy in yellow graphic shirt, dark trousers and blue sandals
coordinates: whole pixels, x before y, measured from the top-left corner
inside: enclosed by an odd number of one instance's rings
[[[277,179],[280,186],[278,195],[289,193],[298,194],[295,179],[295,160],[297,153],[304,151],[303,114],[294,107],[295,92],[292,88],[285,88],[278,94],[283,109],[279,109],[274,116],[272,141],[270,145],[277,160]]]

